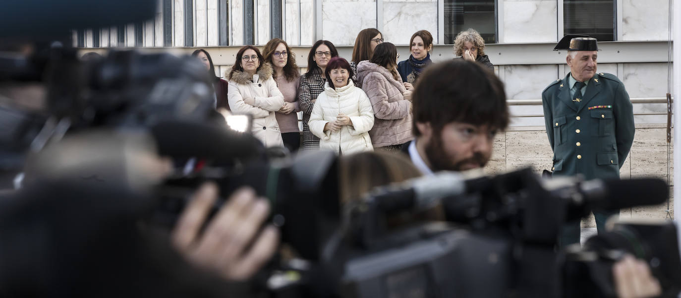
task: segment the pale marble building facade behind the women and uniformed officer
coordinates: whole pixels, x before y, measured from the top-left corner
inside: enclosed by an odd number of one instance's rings
[[[221,2],[222,1],[222,2]],[[306,68],[308,47],[315,40],[330,40],[342,57],[351,56],[358,31],[375,27],[386,41],[398,45],[401,57],[409,56],[409,38],[420,29],[434,36],[432,59],[452,59],[452,45],[443,38],[443,0],[161,0],[155,20],[135,26],[95,29],[82,34],[80,46],[91,48],[143,46],[168,49],[163,31],[172,28],[172,50],[188,53],[206,48],[217,72],[223,76],[234,63],[234,55],[244,44],[244,8],[252,7],[253,41],[265,44],[272,37],[272,20],[281,18],[281,37],[294,48],[298,65]],[[272,18],[271,5],[281,5],[281,16]],[[161,5],[172,4],[172,16],[164,16]],[[187,43],[185,6],[192,3],[193,42]],[[249,5],[244,5],[244,4]],[[219,7],[227,7],[227,25],[219,18]],[[616,38],[601,42],[599,72],[616,74],[627,87],[634,102],[636,136],[631,155],[622,166],[622,177],[671,177],[671,144],[666,142],[667,104],[665,94],[673,82],[668,59],[669,1],[616,0]],[[543,128],[541,91],[569,72],[565,52],[552,51],[563,36],[563,0],[496,0],[496,43],[486,52],[504,81],[513,123],[496,138],[494,160],[488,171],[498,173],[532,165],[537,170],[550,168],[552,153]],[[486,24],[492,25],[492,24]],[[226,42],[219,38],[219,27],[227,27]],[[190,31],[190,32],[191,32]],[[140,38],[136,34],[142,34]],[[121,38],[123,36],[123,38]],[[97,42],[95,42],[95,38]],[[137,43],[135,41],[138,41]],[[140,44],[141,41],[141,44]],[[221,44],[223,44],[221,46]],[[228,45],[225,45],[228,44]],[[667,156],[669,155],[669,162]],[[665,218],[667,206],[622,211],[623,216],[644,214]]]

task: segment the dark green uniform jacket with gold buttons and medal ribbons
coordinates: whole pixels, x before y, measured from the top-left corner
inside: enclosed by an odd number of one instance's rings
[[[595,74],[579,106],[570,98],[570,74],[541,93],[554,175],[620,177],[634,139],[633,107],[613,74]]]

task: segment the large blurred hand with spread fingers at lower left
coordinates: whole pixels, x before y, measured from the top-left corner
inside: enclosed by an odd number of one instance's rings
[[[201,233],[217,193],[214,183],[205,183],[196,192],[175,226],[174,245],[191,263],[228,280],[247,280],[274,254],[279,231],[267,226],[260,232],[270,206],[267,200],[255,198],[251,188],[241,188]]]

